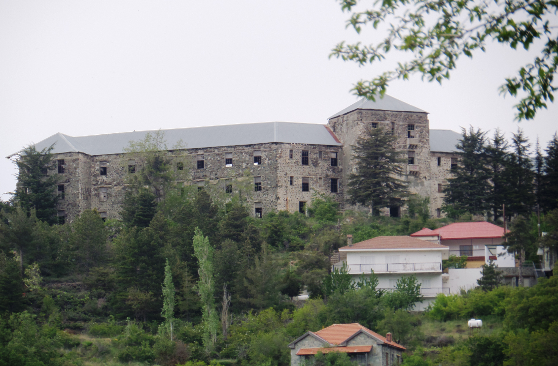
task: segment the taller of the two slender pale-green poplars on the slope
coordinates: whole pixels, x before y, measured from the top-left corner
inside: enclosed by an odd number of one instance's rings
[[[200,295],[202,313],[201,317],[205,323],[203,343],[205,352],[210,353],[217,341],[217,329],[219,319],[215,309],[215,284],[213,280],[213,248],[209,245],[208,237],[196,227],[194,235],[194,255],[198,258],[199,280],[196,285]]]

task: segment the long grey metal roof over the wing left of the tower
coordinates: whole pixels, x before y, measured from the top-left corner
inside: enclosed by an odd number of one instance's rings
[[[263,143],[336,145],[341,143],[325,125],[293,122],[264,122],[161,130],[169,149],[182,140],[187,149]],[[35,144],[37,150],[56,143],[52,153],[81,152],[89,155],[121,154],[129,141],[139,141],[152,131],[133,131],[92,136],[57,133]]]

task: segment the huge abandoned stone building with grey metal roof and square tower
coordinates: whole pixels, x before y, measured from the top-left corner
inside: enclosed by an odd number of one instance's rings
[[[177,179],[203,187],[214,184],[224,192],[234,183],[253,179],[253,212],[304,211],[314,192],[345,203],[347,174],[354,167],[352,148],[368,128],[382,126],[398,136],[397,147],[407,155],[410,191],[430,197],[432,216],[440,216],[441,187],[450,168],[460,134],[430,130],[427,112],[390,96],[360,100],[329,118],[327,125],[267,122],[161,130],[174,162]],[[73,137],[57,133],[35,145],[54,145],[59,174],[59,216],[73,219],[85,209],[117,218],[126,189],[126,177],[140,169],[124,150],[150,131]],[[151,131],[154,133],[155,131]],[[8,157],[9,158],[9,157]],[[186,165],[191,169],[185,169]],[[187,168],[187,167],[186,167]],[[189,172],[180,177],[180,171]],[[400,208],[384,208],[398,216]]]

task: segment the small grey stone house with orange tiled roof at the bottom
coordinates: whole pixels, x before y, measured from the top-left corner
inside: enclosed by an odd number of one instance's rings
[[[358,323],[333,324],[322,330],[308,331],[288,345],[291,366],[311,364],[318,353],[344,352],[359,366],[395,366],[401,363],[405,347]]]

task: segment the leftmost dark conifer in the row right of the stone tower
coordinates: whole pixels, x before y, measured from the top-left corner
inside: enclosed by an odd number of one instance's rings
[[[443,191],[444,211],[453,207],[456,211],[484,214],[490,208],[486,140],[486,133],[480,129],[463,129],[463,138],[456,145],[461,153],[460,164],[453,168],[453,177]]]

